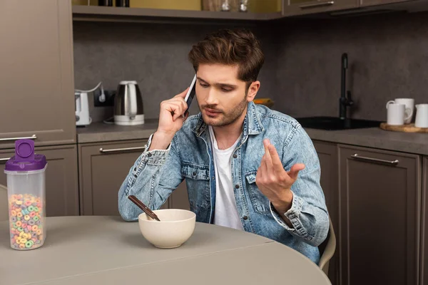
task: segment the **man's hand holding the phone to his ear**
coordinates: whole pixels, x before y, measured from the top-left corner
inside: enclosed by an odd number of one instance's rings
[[[183,127],[185,119],[188,118],[188,113],[185,113],[188,105],[184,100],[188,89],[161,102],[158,130],[153,135],[149,150],[165,150],[173,140],[175,133]],[[185,114],[184,118],[183,114]]]

